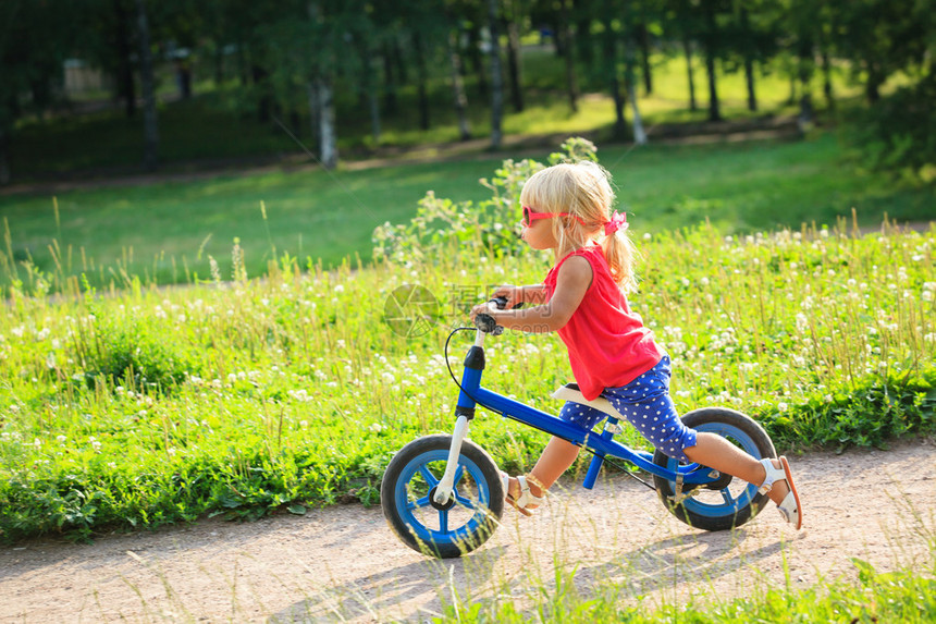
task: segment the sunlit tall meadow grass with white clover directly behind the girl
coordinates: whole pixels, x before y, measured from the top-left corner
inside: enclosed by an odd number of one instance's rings
[[[485,284],[538,282],[546,268],[534,254],[495,255],[487,225],[471,225],[478,212],[457,215],[436,237],[399,238],[399,262],[357,270],[305,272],[287,260],[248,279],[237,262],[233,282],[160,290],[132,276],[124,291],[85,285],[58,303],[29,296],[36,283],[9,287],[0,538],[373,503],[392,453],[451,426],[446,328],[465,322]],[[780,450],[933,430],[936,230],[635,235],[646,261],[632,304],[674,356],[680,411],[743,408]],[[417,255],[426,260],[406,259]],[[409,339],[391,331],[383,307],[407,283],[444,309]],[[455,341],[456,367],[465,346]],[[488,353],[491,387],[555,408],[546,396],[569,375],[555,335],[509,334]],[[510,469],[543,444],[490,416],[472,435]],[[644,445],[630,431],[625,440]]]

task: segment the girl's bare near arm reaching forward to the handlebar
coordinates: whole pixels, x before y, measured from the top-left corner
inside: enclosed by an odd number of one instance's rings
[[[572,256],[559,267],[559,272],[556,276],[556,292],[553,293],[549,303],[544,303],[546,295],[544,286],[537,287],[537,290],[533,290],[534,286],[524,286],[524,289],[530,287],[529,294],[539,297],[541,305],[524,309],[497,310],[490,309],[488,304],[482,304],[475,306],[471,310],[471,320],[483,313],[494,317],[497,325],[507,329],[535,333],[556,331],[564,327],[578,309],[586,292],[591,286],[591,280],[592,270],[588,260],[581,256]],[[497,291],[494,294],[496,295]],[[526,296],[527,293],[524,295]],[[529,302],[531,299],[525,298],[524,301]]]

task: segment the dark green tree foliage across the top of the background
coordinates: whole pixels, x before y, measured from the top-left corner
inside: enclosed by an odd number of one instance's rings
[[[748,107],[758,110],[759,72],[779,69],[808,118],[817,72],[826,108],[835,106],[829,75],[838,66],[863,87],[867,132],[859,134],[879,164],[919,170],[934,161],[931,115],[895,111],[932,101],[936,0],[9,0],[0,3],[0,182],[10,176],[17,120],[61,108],[65,59],[101,69],[125,114],[139,114],[140,5],[158,62],[181,64],[174,54],[186,50],[224,85],[230,107],[286,120],[328,166],[347,123],[368,119],[379,145],[383,117],[428,130],[448,112],[441,106],[457,110],[446,117],[458,115],[461,138],[471,134],[470,109],[493,111],[498,145],[503,102],[526,106],[530,81],[517,50],[537,30],[561,57],[569,107],[580,91],[609,93],[621,137],[639,131],[625,105],[638,121],[637,87],[652,91],[654,54],[702,59],[704,81],[690,64],[687,105],[704,101],[713,121],[723,118],[724,72],[744,73]],[[884,89],[892,78],[907,86]],[[398,106],[405,90],[415,94],[412,110]]]

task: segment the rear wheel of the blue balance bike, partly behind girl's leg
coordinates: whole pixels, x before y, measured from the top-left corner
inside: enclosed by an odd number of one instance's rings
[[[749,416],[724,407],[703,407],[682,416],[682,423],[697,431],[709,431],[727,438],[756,460],[776,457],[774,443],[767,432]],[[656,451],[653,463],[674,469],[679,463]],[[680,503],[673,500],[676,484],[664,477],[653,477],[656,493],[673,515],[686,524],[704,530],[727,530],[750,521],[768,500],[758,493],[756,486],[723,475],[714,484],[704,486],[698,494]],[[683,486],[683,492],[691,486]]]

